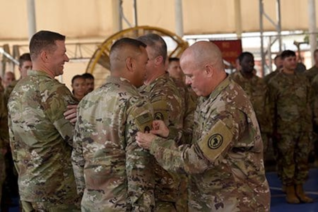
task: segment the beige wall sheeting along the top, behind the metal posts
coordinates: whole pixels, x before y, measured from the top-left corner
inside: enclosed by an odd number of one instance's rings
[[[235,32],[234,1],[183,0],[184,34]],[[243,32],[259,31],[259,1],[240,0]],[[276,0],[264,0],[264,10],[276,20]],[[280,0],[282,30],[308,30],[304,0]],[[27,0],[2,1],[0,40],[28,38]],[[174,0],[137,0],[138,25],[175,31]],[[316,4],[317,11],[318,4]],[[35,0],[37,30],[53,30],[69,38],[107,37],[114,33],[112,0]],[[133,0],[123,0],[125,17],[133,24]],[[316,16],[318,17],[318,16]],[[316,20],[318,23],[318,20]],[[128,25],[123,22],[123,29]],[[275,27],[264,18],[264,30]]]

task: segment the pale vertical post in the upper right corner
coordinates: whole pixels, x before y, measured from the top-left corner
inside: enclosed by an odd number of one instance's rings
[[[311,64],[315,64],[314,51],[317,48],[315,0],[308,0],[309,45]]]

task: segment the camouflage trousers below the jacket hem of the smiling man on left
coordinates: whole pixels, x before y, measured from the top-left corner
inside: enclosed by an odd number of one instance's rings
[[[78,204],[53,204],[51,202],[21,201],[23,212],[80,212]]]

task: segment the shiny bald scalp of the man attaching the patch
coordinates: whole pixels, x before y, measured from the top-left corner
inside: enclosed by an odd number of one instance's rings
[[[218,46],[210,41],[199,41],[187,48],[180,61],[189,59],[193,65],[202,66],[211,63],[216,67],[216,70],[224,71],[222,53]]]

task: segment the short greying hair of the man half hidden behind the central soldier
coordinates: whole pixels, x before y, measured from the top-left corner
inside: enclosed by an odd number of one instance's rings
[[[138,37],[137,40],[140,40],[143,43],[145,43],[147,46],[150,46],[151,48],[153,48],[157,54],[155,56],[162,56],[163,61],[166,61],[167,44],[162,39],[162,37],[160,37],[157,34],[151,33],[151,34],[142,35]]]

